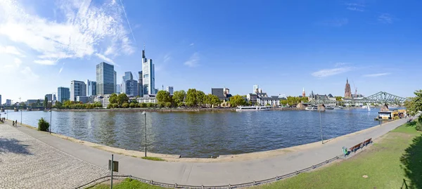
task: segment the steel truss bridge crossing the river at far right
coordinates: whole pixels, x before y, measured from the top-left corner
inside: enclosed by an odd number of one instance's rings
[[[385,103],[404,103],[404,101],[406,101],[407,98],[403,98],[400,96],[395,96],[393,94],[384,92],[384,91],[380,91],[378,93],[375,93],[371,96],[366,96],[364,98],[351,98],[351,99],[347,99],[347,98],[343,98],[343,102],[344,103],[378,103],[378,104],[385,104]],[[312,105],[316,105],[316,104],[330,104],[330,103],[337,103],[336,100],[330,100],[330,99],[321,99],[321,100],[311,100],[309,101],[308,104],[312,104]]]

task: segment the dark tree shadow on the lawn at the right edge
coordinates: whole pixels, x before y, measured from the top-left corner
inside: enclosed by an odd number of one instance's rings
[[[411,145],[406,148],[400,162],[409,182],[406,188],[422,188],[422,135],[416,136]]]

